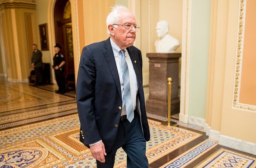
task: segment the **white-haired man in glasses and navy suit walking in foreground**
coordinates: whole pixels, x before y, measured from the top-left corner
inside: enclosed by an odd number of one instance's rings
[[[140,27],[125,6],[117,5],[106,23],[110,37],[85,46],[81,54],[76,86],[80,141],[91,149],[98,168],[112,168],[120,147],[128,168],[147,168],[150,130],[142,57],[133,46]]]

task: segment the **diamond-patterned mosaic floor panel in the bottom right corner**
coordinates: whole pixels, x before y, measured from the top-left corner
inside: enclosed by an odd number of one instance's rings
[[[256,158],[220,148],[196,168],[256,168]]]

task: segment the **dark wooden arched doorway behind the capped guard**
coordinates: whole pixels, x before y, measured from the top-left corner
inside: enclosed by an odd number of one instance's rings
[[[69,0],[56,0],[54,7],[55,38],[56,43],[62,46],[61,51],[65,57],[65,76],[75,73],[71,17]]]

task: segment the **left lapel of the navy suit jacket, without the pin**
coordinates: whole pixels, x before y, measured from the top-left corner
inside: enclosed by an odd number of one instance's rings
[[[114,57],[114,53],[113,53],[112,46],[111,46],[109,38],[107,40],[105,40],[104,48],[106,49],[106,51],[103,52],[103,54],[104,54],[104,56],[106,58],[106,61],[109,65],[109,69],[112,73],[112,76],[113,76],[113,78],[116,82],[116,87],[118,89],[119,96],[122,99],[122,92],[121,92],[119,74],[118,74],[118,70],[117,70],[117,67],[116,67],[116,60],[115,60],[115,57]]]

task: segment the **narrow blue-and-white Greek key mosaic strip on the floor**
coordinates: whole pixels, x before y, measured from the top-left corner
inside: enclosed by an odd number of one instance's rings
[[[218,145],[217,141],[206,139],[197,146],[187,150],[187,152],[182,153],[180,156],[162,165],[160,168],[184,168],[189,165],[194,160],[198,159],[204,153],[208,152],[212,148]]]

